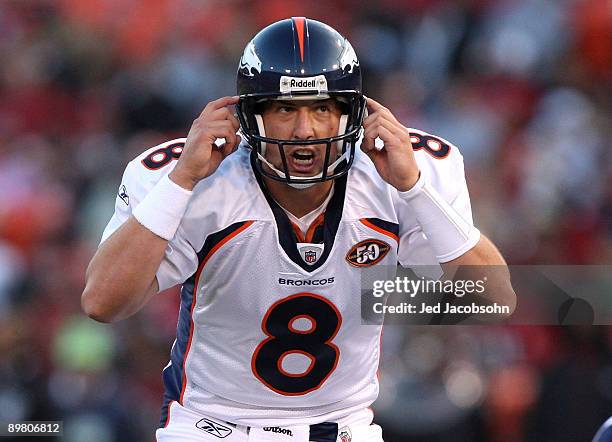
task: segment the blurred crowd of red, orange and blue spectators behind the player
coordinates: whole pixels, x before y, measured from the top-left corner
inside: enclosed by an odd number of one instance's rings
[[[178,291],[97,324],[85,269],[126,163],[233,95],[246,42],[292,15],[340,30],[368,95],[461,147],[509,263],[610,263],[609,0],[2,0],[0,421],[153,440]],[[590,441],[611,350],[608,327],[389,327],[375,419],[388,442]]]

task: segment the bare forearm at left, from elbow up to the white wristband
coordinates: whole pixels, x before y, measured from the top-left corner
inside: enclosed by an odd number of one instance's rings
[[[85,313],[114,322],[137,312],[155,293],[155,274],[168,241],[130,217],[98,249],[81,296]]]

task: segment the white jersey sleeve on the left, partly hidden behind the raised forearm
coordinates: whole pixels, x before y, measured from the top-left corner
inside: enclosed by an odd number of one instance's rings
[[[154,152],[156,149],[159,150],[170,143],[164,143],[149,149],[128,163],[115,199],[115,213],[102,233],[100,244],[106,241],[129,219],[133,210],[155,184],[164,175],[170,173],[176,161],[172,161],[168,165],[155,170],[148,169],[142,163],[142,159],[150,155],[151,152]],[[194,247],[188,241],[184,230],[179,227],[175,237],[168,242],[164,258],[156,273],[159,290],[162,291],[185,282],[197,270],[197,263],[198,258]]]

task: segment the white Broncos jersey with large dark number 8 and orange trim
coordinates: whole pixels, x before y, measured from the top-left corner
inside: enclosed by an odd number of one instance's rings
[[[410,131],[421,173],[472,222],[458,149]],[[184,141],[128,164],[103,241],[172,170]],[[376,399],[381,326],[362,325],[361,272],[437,264],[434,252],[359,148],[315,223],[304,243],[266,194],[246,146],[198,183],[157,272],[160,290],[182,284],[162,422],[173,400],[259,427],[334,421]]]

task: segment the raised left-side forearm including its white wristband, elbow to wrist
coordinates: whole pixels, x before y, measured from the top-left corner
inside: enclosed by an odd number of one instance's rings
[[[102,243],[87,269],[83,310],[112,322],[138,311],[157,293],[155,275],[192,192],[162,177],[124,224]]]

